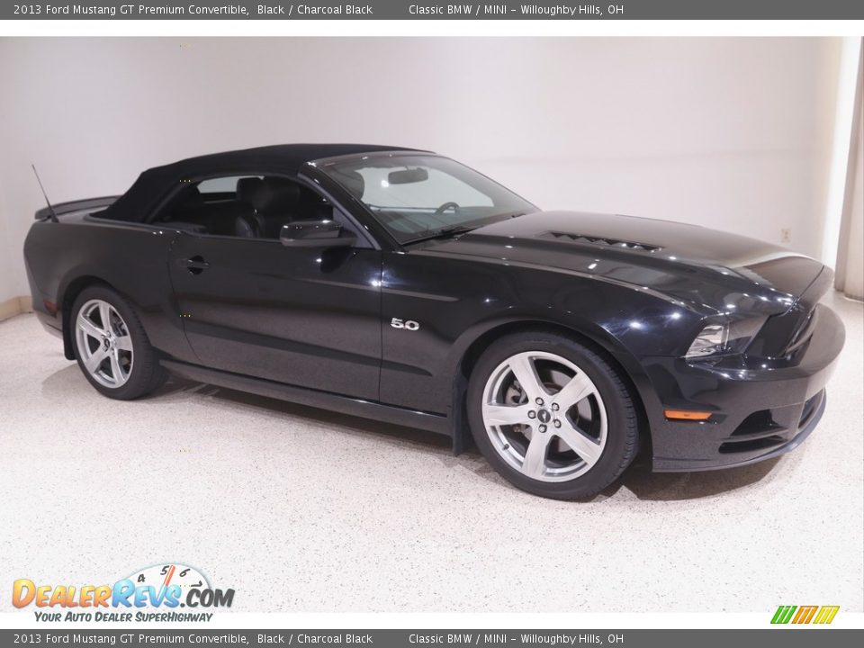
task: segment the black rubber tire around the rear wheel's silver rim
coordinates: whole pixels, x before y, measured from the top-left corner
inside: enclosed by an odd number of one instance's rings
[[[125,383],[119,386],[111,387],[100,383],[93,374],[86,368],[84,356],[86,352],[82,352],[79,346],[79,337],[76,331],[76,322],[78,315],[86,304],[92,303],[94,300],[107,302],[122,319],[122,324],[131,339],[130,357],[133,358],[130,362],[130,371]],[[118,401],[132,401],[140,398],[156,390],[162,383],[165,383],[167,373],[165,369],[159,365],[156,350],[150,345],[144,328],[134,309],[130,303],[121,297],[120,294],[113,291],[108,286],[93,285],[85,288],[78,294],[75,302],[72,304],[72,310],[69,313],[69,327],[72,338],[72,345],[75,349],[75,356],[81,373],[84,374],[87,381],[92,384],[95,390],[103,396],[116,399]],[[89,344],[93,344],[90,342]],[[107,370],[110,372],[110,370]]]

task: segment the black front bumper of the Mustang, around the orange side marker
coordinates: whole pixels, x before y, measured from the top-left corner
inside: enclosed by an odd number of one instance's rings
[[[734,366],[652,358],[646,371],[660,396],[649,412],[653,470],[683,472],[753,464],[783,455],[810,435],[825,409],[845,332],[816,306],[813,334],[792,358]],[[714,412],[706,421],[668,420],[662,410]]]

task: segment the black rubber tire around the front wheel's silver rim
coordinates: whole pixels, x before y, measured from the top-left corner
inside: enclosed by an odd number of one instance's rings
[[[483,401],[486,398],[487,382],[491,380],[492,373],[496,372],[502,363],[521,353],[553,354],[577,365],[596,387],[605,408],[605,446],[602,447],[599,458],[587,469],[587,472],[574,476],[568,481],[546,482],[532,479],[521,472],[508,463],[500,454],[500,450],[493,445],[491,433],[487,431],[484,423]],[[615,482],[634,460],[638,451],[638,421],[626,384],[608,360],[600,355],[599,350],[582,345],[571,338],[551,332],[536,331],[513,334],[496,340],[473,367],[468,383],[467,399],[468,422],[474,442],[482,455],[508,482],[522,491],[541,497],[554,500],[588,499]],[[527,403],[528,400],[524,402]],[[539,410],[532,415],[536,417],[533,421],[536,425],[539,425],[538,414]],[[546,417],[548,412],[543,414]],[[505,429],[511,428],[505,427]],[[551,438],[554,438],[555,431],[551,426],[548,429]],[[532,434],[535,433],[532,431]],[[503,446],[502,450],[507,450],[507,447]],[[527,450],[524,456],[527,458]],[[579,461],[579,457],[576,456],[574,463],[579,464]]]

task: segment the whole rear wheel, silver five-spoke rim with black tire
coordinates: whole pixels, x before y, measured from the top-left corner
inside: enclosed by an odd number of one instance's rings
[[[92,286],[72,306],[75,356],[98,392],[122,401],[139,398],[165,381],[138,316],[118,293]]]

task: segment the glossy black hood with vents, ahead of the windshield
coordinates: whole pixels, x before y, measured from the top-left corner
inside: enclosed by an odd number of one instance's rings
[[[786,312],[824,267],[783,247],[715,229],[573,211],[501,220],[459,238],[430,241],[423,252],[602,277],[709,313]]]

